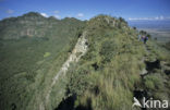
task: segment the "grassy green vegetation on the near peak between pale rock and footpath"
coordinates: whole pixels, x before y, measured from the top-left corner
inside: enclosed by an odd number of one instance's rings
[[[93,110],[131,109],[145,52],[137,33],[121,19],[106,15],[92,19],[86,29],[88,51],[70,72],[78,77],[69,84],[77,95],[75,107],[87,107],[90,100]]]

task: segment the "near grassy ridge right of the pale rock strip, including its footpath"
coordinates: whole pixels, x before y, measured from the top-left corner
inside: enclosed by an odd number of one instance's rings
[[[86,29],[88,51],[70,69],[69,96],[56,110],[141,110],[133,97],[170,99],[168,50],[144,45],[123,19],[99,15]]]

